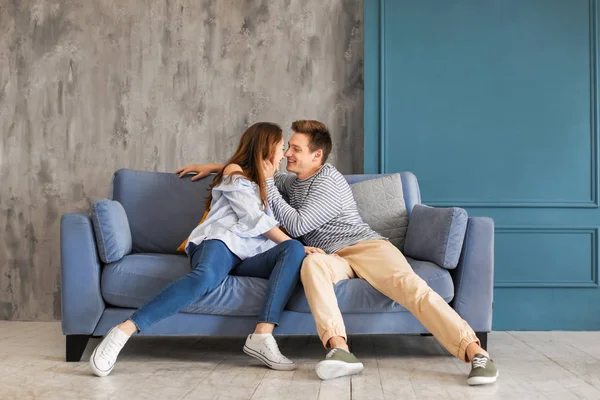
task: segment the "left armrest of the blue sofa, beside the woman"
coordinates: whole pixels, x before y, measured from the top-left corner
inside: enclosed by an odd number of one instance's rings
[[[100,260],[92,221],[85,214],[64,214],[60,222],[62,330],[92,334],[102,313]]]

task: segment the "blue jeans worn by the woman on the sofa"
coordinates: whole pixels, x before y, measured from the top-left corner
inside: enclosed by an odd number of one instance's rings
[[[278,324],[281,312],[298,283],[304,260],[302,243],[287,240],[243,261],[220,240],[205,240],[198,246],[193,243],[189,246],[192,271],[171,282],[131,316],[140,331],[206,296],[223,283],[229,273],[269,280],[258,322]]]

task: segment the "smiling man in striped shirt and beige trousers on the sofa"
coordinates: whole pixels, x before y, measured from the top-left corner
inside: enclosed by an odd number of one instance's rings
[[[471,361],[470,385],[495,382],[496,366],[467,322],[412,270],[400,250],[363,222],[350,186],[327,163],[332,148],[327,127],[318,121],[296,121],[292,130],[285,157],[287,170],[294,174],[278,173],[273,165],[265,170],[275,218],[291,237],[327,253],[308,255],[301,270],[319,337],[331,349],[317,364],[317,375],[330,379],[363,369],[348,348],[333,287],[359,277],[406,307],[450,353]],[[195,180],[220,168],[220,164],[192,165],[177,172],[180,176],[196,172]]]

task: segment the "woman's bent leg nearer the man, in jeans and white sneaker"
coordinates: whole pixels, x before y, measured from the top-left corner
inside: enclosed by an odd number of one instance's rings
[[[298,284],[303,260],[302,243],[287,240],[264,253],[242,261],[232,271],[233,275],[269,280],[263,311],[258,318],[254,334],[249,335],[246,340],[244,352],[273,369],[291,370],[296,367],[281,354],[272,332]]]

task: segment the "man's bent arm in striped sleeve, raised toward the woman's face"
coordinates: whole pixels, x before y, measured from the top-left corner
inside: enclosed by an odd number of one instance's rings
[[[323,226],[342,211],[337,184],[333,176],[318,177],[304,204],[295,209],[282,197],[273,179],[267,179],[269,205],[275,218],[292,237],[300,237]]]

